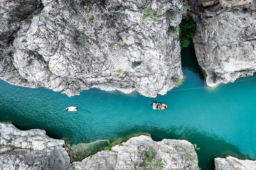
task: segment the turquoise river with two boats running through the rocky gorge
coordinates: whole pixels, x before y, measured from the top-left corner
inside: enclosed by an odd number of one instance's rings
[[[17,128],[40,128],[70,145],[125,138],[140,132],[153,140],[188,140],[201,169],[214,169],[214,158],[232,155],[256,159],[256,76],[208,88],[192,48],[181,52],[186,80],[164,96],[147,98],[98,89],[68,97],[45,88],[13,86],[0,80],[0,121]],[[167,111],[153,111],[152,101]],[[78,106],[78,112],[67,112]],[[107,144],[105,144],[107,145]]]

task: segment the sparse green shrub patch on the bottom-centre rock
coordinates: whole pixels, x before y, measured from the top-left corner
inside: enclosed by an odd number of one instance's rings
[[[140,154],[138,157],[143,160],[142,164],[138,164],[138,169],[164,169],[164,164],[161,163],[161,159],[154,159],[155,154],[152,149],[146,150]]]

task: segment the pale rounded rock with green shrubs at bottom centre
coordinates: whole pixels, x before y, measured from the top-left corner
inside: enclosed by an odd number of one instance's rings
[[[166,139],[154,142],[151,137],[144,135],[132,137],[122,146],[112,147],[111,151],[101,151],[82,162],[73,162],[69,169],[144,169],[144,162],[139,154],[149,149],[155,154],[151,166],[156,167],[156,163],[159,163],[163,169],[199,169],[197,155],[191,143]]]

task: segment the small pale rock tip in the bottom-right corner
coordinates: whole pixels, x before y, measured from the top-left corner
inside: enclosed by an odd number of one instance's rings
[[[215,170],[255,170],[256,161],[240,160],[235,157],[215,158]]]

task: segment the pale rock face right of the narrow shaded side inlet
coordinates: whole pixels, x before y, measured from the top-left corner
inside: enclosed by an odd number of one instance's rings
[[[197,30],[198,64],[215,86],[256,72],[256,1],[190,1]]]

